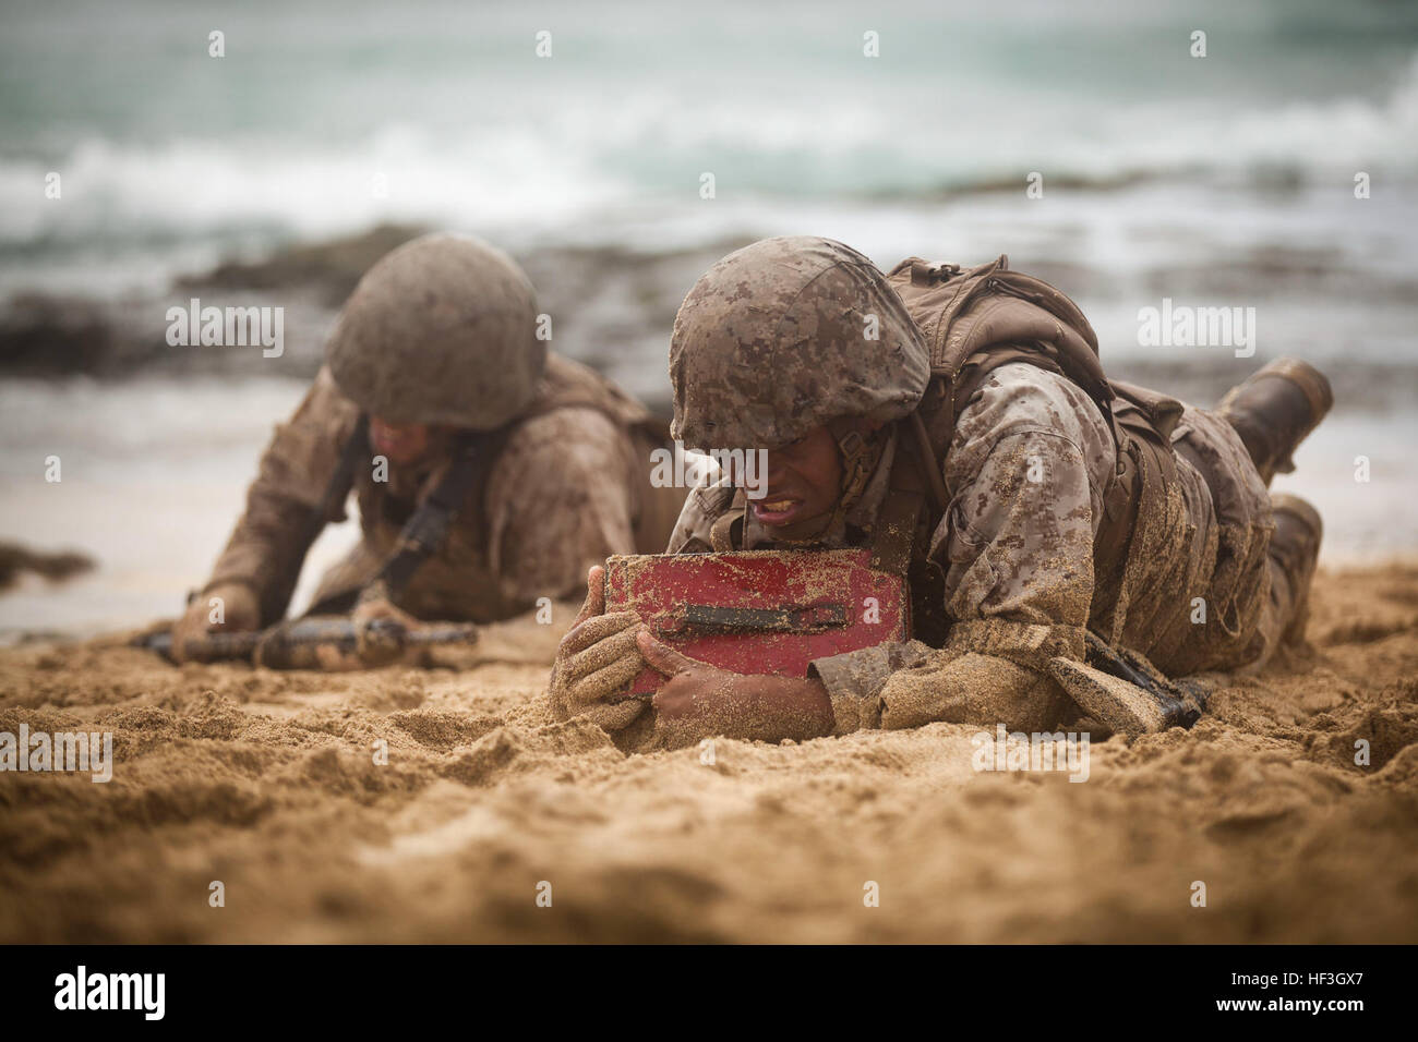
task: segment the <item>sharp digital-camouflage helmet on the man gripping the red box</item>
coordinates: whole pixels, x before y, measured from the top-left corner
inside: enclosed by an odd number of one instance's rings
[[[875,333],[876,339],[872,339]],[[909,415],[930,353],[886,276],[827,238],[766,238],[689,291],[669,343],[672,434],[777,448],[844,417]]]

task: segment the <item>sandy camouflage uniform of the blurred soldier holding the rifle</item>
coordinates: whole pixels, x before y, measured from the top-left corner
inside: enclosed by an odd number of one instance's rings
[[[557,400],[567,404],[557,407]],[[296,533],[319,508],[359,413],[322,370],[261,458],[245,513],[208,588],[247,584],[265,605],[262,622],[279,618],[285,605],[272,605],[268,593],[286,570],[301,567],[305,547],[295,543]],[[481,488],[400,598],[398,607],[411,615],[508,618],[539,597],[574,597],[587,568],[608,554],[664,546],[682,493],[649,486],[649,449],[661,442],[648,435],[651,418],[640,405],[584,366],[552,354],[526,414],[489,435]],[[374,481],[372,459],[357,468],[362,539],[326,573],[316,603],[339,600],[374,577],[450,461],[442,451],[414,466],[389,464],[387,482]],[[336,505],[326,520],[343,517],[343,505]]]

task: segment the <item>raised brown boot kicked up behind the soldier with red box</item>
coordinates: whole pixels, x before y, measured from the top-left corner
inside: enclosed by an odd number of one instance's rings
[[[1276,359],[1236,384],[1217,405],[1245,442],[1261,481],[1295,469],[1290,455],[1334,404],[1329,380],[1299,359]]]

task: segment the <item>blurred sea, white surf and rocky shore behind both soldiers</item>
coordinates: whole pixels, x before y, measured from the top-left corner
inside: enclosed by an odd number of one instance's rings
[[[0,542],[96,563],[13,577],[0,638],[176,614],[359,274],[427,228],[509,250],[553,347],[661,410],[679,301],[754,238],[882,267],[1005,252],[1082,305],[1113,376],[1208,405],[1272,357],[1319,364],[1337,405],[1279,488],[1324,513],[1329,564],[1418,551],[1418,4],[7,0],[0,20]],[[285,353],[167,346],[194,296],[284,308]],[[1163,298],[1255,308],[1255,356],[1140,346]],[[352,534],[322,537],[298,607]]]

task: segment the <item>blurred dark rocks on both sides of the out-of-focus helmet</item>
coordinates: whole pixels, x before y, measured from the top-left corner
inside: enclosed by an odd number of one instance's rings
[[[28,295],[0,309],[0,371],[16,376],[221,373],[309,379],[325,339],[360,276],[384,254],[425,230],[381,224],[357,235],[291,245],[259,261],[230,261],[186,275],[162,293],[119,301]],[[553,347],[601,370],[668,414],[665,357],[685,293],[710,264],[752,237],[678,251],[559,245],[512,251],[543,312]],[[259,344],[169,343],[169,309],[279,308],[284,349]]]

